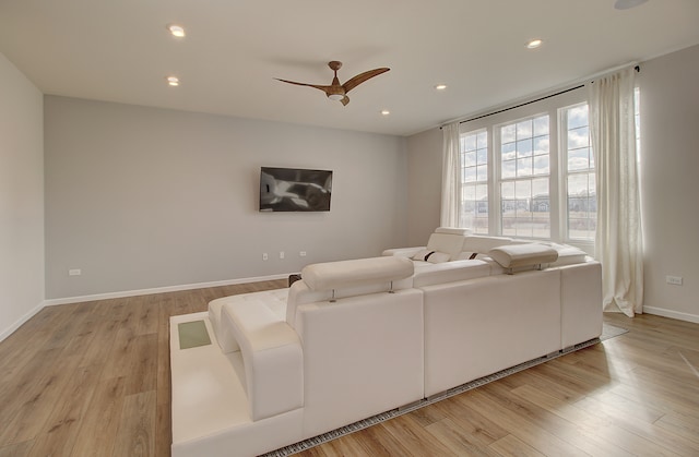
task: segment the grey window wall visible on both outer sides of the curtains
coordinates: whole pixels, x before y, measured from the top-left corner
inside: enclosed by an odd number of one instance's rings
[[[699,322],[699,46],[643,62],[638,81],[644,311]],[[413,244],[439,224],[441,142],[439,129],[407,139]],[[684,285],[665,284],[666,275],[682,276]]]

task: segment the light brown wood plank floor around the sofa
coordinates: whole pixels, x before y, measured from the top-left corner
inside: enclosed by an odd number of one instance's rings
[[[284,285],[42,310],[0,342],[0,457],[169,456],[168,317]],[[301,455],[699,456],[699,325],[605,321],[630,332]]]

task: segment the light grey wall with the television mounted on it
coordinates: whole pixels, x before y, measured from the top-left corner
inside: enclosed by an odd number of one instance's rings
[[[45,113],[47,299],[287,274],[405,244],[404,139],[56,96]],[[261,166],[333,170],[331,211],[259,213]]]

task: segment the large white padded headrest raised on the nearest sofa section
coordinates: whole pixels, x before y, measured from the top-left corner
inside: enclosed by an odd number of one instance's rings
[[[382,256],[307,265],[301,278],[311,290],[332,290],[390,282],[413,275],[413,263],[403,257]]]

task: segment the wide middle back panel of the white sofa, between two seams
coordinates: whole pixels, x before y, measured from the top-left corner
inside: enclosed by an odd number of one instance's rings
[[[425,396],[560,349],[560,273],[427,286]]]

